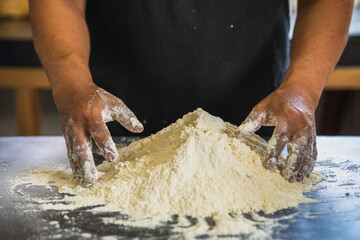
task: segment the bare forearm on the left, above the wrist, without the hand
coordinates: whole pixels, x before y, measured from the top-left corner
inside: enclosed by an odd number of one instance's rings
[[[35,49],[53,91],[92,82],[85,0],[29,3]]]

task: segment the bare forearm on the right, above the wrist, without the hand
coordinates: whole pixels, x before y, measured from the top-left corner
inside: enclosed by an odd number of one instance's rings
[[[298,86],[314,108],[345,47],[352,9],[352,0],[299,0],[290,66],[282,86]]]

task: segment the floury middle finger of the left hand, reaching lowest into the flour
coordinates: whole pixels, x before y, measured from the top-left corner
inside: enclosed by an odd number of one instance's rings
[[[98,172],[92,155],[90,134],[86,134],[83,128],[73,128],[73,146],[71,161],[73,162],[74,174],[80,179],[84,187],[92,186],[97,178]]]

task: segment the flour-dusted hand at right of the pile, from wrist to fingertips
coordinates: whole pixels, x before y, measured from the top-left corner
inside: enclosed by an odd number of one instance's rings
[[[317,158],[315,107],[299,87],[280,87],[258,103],[235,134],[249,136],[261,126],[276,126],[269,141],[265,165],[282,169],[289,182],[302,182],[314,169]],[[286,162],[280,158],[287,144]]]

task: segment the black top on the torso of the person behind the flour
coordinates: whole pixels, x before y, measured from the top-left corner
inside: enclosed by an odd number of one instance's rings
[[[282,81],[288,13],[287,0],[88,0],[94,82],[144,135],[197,107],[239,124]]]

